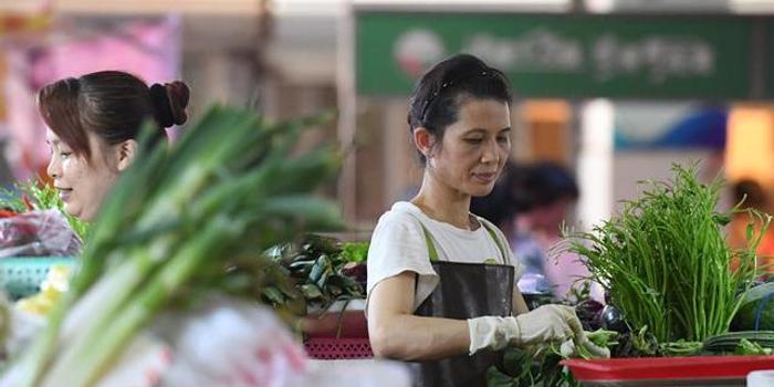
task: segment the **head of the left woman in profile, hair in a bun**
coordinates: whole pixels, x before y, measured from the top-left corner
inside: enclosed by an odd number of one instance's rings
[[[105,195],[137,154],[146,121],[156,123],[151,144],[188,119],[188,86],[175,81],[148,86],[121,71],[102,71],[51,83],[38,92],[38,108],[51,149],[48,174],[64,210],[96,218]]]

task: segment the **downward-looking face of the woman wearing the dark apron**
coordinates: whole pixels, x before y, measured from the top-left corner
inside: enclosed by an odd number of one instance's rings
[[[511,151],[511,109],[495,100],[467,100],[428,157],[436,179],[461,195],[485,196]]]

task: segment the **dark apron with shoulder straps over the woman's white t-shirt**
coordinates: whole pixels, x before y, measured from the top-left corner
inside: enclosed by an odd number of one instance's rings
[[[494,230],[480,221],[498,245],[503,263],[510,263]],[[420,222],[421,224],[421,222]],[[481,264],[438,261],[432,237],[422,226],[432,269],[440,281],[414,313],[418,316],[467,320],[481,316],[510,316],[514,271],[511,264]],[[502,353],[482,349],[431,362],[412,362],[416,387],[485,387],[487,369],[501,365]]]

